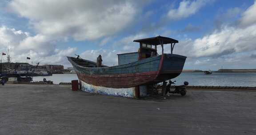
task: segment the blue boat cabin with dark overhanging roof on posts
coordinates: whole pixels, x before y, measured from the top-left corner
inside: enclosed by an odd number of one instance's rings
[[[171,54],[173,52],[174,45],[179,43],[178,40],[164,36],[156,36],[152,38],[133,40],[133,42],[140,43],[138,52],[130,52],[117,54],[118,65],[129,64],[137,60],[143,60],[152,56],[157,56],[157,46],[160,45],[162,48],[162,54],[164,54],[164,44],[171,44]]]

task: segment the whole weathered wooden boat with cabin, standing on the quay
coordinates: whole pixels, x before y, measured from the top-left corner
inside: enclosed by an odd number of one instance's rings
[[[109,92],[115,93],[116,90],[116,94],[120,95],[118,91],[124,88],[152,85],[180,75],[187,57],[172,54],[178,40],[156,36],[134,42],[140,43],[138,52],[118,54],[117,66],[98,67],[97,63],[89,60],[68,57],[80,80],[81,89],[104,95],[112,95]],[[171,54],[164,53],[164,44],[171,44]],[[157,54],[158,45],[162,48],[161,55]]]

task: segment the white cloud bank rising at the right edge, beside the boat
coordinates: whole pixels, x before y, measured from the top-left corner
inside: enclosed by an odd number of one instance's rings
[[[232,53],[250,52],[256,50],[256,3],[249,7],[235,26],[222,26],[192,43],[191,56],[219,57]],[[240,27],[243,25],[243,27]]]

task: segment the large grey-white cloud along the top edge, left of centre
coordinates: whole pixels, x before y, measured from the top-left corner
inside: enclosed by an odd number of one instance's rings
[[[122,31],[143,4],[135,0],[12,0],[9,7],[42,35],[95,40]]]

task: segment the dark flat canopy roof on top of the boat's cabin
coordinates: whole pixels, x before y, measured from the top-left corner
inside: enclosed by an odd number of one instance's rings
[[[179,43],[178,40],[174,40],[172,38],[164,37],[164,36],[156,36],[146,39],[133,40],[133,42],[152,44],[152,45],[160,45],[160,40],[163,41],[163,44],[171,44],[171,43]]]

